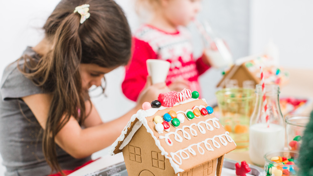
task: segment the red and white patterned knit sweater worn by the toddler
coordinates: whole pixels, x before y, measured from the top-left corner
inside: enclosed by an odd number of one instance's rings
[[[202,58],[193,58],[191,35],[185,28],[176,33],[166,33],[149,25],[139,28],[134,34],[133,55],[126,66],[126,74],[122,83],[125,96],[136,101],[146,84],[148,76],[146,60],[162,59],[171,63],[166,78],[169,85],[176,79],[188,81],[192,91],[200,93],[198,77],[210,66],[203,63]],[[161,71],[161,70],[160,70]]]

